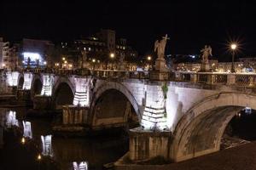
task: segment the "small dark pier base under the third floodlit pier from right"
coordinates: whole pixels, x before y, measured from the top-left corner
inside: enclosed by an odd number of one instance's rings
[[[49,110],[52,109],[52,99],[50,96],[36,95],[33,99],[33,109]]]

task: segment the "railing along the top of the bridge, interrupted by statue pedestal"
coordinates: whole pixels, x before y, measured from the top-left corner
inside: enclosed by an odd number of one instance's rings
[[[113,70],[66,70],[66,69],[30,69],[22,70],[33,73],[54,73],[55,75],[93,76],[111,79],[152,79],[148,71],[113,71]],[[166,72],[165,81],[190,82],[203,84],[226,84],[235,86],[256,85],[256,73],[221,73],[221,72]]]

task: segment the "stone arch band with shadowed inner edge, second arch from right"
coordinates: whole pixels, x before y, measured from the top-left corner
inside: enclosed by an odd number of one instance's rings
[[[137,104],[137,100],[131,94],[131,91],[120,82],[104,82],[100,87],[96,88],[95,94],[93,94],[93,97],[91,99],[90,117],[89,117],[90,124],[92,126],[96,126],[96,121],[97,121],[96,105],[97,105],[98,100],[102,99],[105,95],[113,94],[113,93],[119,95],[120,98],[126,99],[129,102],[132,109],[136,113],[137,121],[140,122],[141,113],[139,111],[139,105]],[[113,100],[112,102],[114,103],[116,101],[117,101],[117,99]],[[124,116],[126,116],[126,115],[124,115]]]

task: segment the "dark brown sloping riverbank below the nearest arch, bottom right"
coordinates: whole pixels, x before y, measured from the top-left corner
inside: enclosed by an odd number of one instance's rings
[[[207,156],[200,156],[188,161],[168,165],[125,165],[117,170],[255,170],[256,142],[220,150]]]

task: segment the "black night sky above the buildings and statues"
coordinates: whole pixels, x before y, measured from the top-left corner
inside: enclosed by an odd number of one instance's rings
[[[215,57],[228,59],[227,42],[236,40],[239,56],[256,56],[256,3],[251,1],[5,0],[0,7],[0,36],[11,41],[58,42],[109,28],[141,55],[167,33],[166,54],[198,54],[209,44]]]

